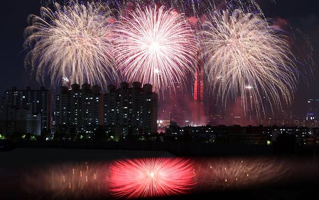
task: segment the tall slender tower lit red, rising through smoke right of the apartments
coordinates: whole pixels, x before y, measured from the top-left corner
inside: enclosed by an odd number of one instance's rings
[[[197,62],[197,71],[195,71],[194,80],[194,101],[192,108],[192,124],[193,125],[206,125],[205,112],[204,112],[204,63],[202,60]]]

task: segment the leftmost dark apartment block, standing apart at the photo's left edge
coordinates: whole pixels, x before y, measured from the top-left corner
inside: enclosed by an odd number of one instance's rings
[[[21,108],[28,113],[28,115],[25,115],[25,119],[29,121],[27,124],[37,124],[33,126],[37,127],[37,130],[21,128],[20,131],[23,130],[27,133],[30,131],[30,133],[38,135],[43,131],[50,131],[52,114],[52,92],[50,90],[45,87],[41,87],[39,90],[32,90],[31,87],[27,87],[26,90],[18,90],[13,87],[12,90],[5,91],[1,112],[4,132],[7,134],[17,131],[20,120],[16,117],[18,117],[17,114],[21,114],[21,110],[18,110]],[[38,126],[39,117],[40,126]]]

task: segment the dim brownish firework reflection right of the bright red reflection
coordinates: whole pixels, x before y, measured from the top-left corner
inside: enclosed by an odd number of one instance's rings
[[[282,181],[290,175],[289,162],[276,159],[220,159],[195,162],[196,188],[247,188]]]

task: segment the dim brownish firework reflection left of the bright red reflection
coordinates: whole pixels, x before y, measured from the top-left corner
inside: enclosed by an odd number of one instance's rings
[[[105,195],[108,189],[109,165],[104,163],[60,164],[28,171],[27,192],[50,194],[52,199],[93,198]]]

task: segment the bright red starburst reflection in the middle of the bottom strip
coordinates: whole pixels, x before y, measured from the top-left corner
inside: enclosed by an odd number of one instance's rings
[[[181,158],[115,161],[110,174],[112,194],[128,199],[186,194],[195,184],[192,163]]]

